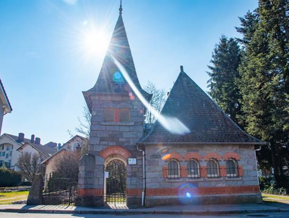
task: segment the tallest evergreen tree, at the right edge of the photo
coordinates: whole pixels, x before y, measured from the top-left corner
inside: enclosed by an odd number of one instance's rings
[[[260,0],[241,18],[244,56],[239,66],[243,120],[248,133],[263,141],[259,164],[271,165],[277,185],[285,185],[288,162],[289,0]],[[288,175],[287,175],[288,176]]]

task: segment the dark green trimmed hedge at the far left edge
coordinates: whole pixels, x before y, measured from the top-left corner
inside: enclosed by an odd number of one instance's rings
[[[11,187],[19,185],[21,173],[8,169],[0,169],[0,187]]]

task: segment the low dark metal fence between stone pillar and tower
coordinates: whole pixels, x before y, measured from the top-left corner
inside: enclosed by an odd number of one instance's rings
[[[75,205],[78,178],[65,178],[59,174],[44,179],[44,205]]]

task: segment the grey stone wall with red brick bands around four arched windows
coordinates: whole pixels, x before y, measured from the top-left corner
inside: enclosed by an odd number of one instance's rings
[[[188,184],[187,188],[196,194],[195,197],[198,196],[198,198],[202,199],[204,199],[205,196],[217,196],[219,194],[247,194],[244,196],[244,199],[242,199],[242,202],[246,202],[247,197],[248,202],[249,199],[251,202],[259,202],[261,199],[257,176],[256,154],[253,145],[163,144],[146,145],[145,151],[147,206],[149,206],[151,202],[154,202],[156,205],[166,204],[165,202],[170,202],[168,204],[171,204],[173,199],[176,200],[178,198],[180,189],[182,189],[185,184]],[[211,157],[218,159],[219,178],[207,178],[206,164],[207,160]],[[180,178],[178,179],[170,179],[167,176],[167,162],[170,158],[178,159],[179,161]],[[190,158],[199,160],[201,174],[199,178],[187,177],[187,161]],[[237,178],[229,178],[226,175],[225,160],[228,158],[234,158],[238,163],[239,176]],[[158,202],[157,199],[160,199],[160,202]],[[236,197],[233,197],[233,199],[236,199]],[[207,199],[205,201],[207,201]],[[232,199],[228,202],[230,201],[232,201]]]

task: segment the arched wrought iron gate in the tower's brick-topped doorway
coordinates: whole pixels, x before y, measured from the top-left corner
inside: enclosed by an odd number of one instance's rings
[[[104,203],[125,204],[126,203],[126,166],[120,160],[113,160],[104,167],[106,178],[106,193]]]

